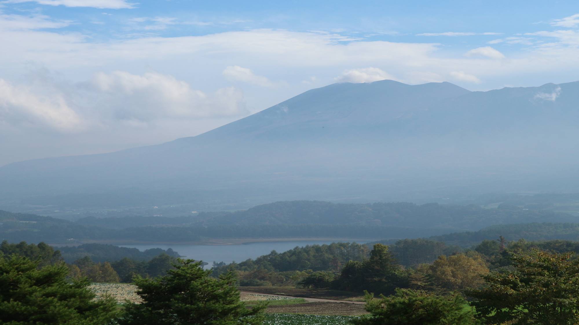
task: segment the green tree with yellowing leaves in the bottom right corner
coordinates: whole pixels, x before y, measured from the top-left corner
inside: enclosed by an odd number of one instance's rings
[[[493,271],[477,298],[478,317],[495,324],[579,324],[579,261],[573,253],[510,253],[514,271]]]

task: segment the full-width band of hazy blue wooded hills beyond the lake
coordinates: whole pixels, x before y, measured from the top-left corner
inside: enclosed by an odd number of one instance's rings
[[[497,224],[578,221],[577,217],[566,213],[516,206],[483,209],[475,205],[332,204],[322,201],[275,202],[236,212],[202,212],[175,218],[89,217],[72,222],[3,211],[0,211],[0,218],[0,239],[49,243],[184,243],[214,238],[421,238],[476,231]],[[490,238],[494,237],[493,234]]]

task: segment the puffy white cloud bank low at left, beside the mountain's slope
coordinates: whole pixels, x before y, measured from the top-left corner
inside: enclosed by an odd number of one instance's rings
[[[89,82],[57,82],[41,76],[32,86],[0,79],[0,121],[59,132],[86,132],[118,123],[245,116],[243,93],[234,87],[214,94],[160,73],[96,73]]]

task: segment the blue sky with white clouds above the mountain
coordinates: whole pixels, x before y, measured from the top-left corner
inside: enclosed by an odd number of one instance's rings
[[[382,79],[577,81],[579,5],[0,0],[0,165],[155,145]]]

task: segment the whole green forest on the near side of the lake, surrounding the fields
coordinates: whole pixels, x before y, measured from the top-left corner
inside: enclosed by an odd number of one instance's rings
[[[109,246],[85,251],[114,254]],[[85,256],[65,263],[45,243],[2,242],[0,322],[34,315],[37,324],[263,324],[267,302],[244,304],[238,286],[281,285],[364,293],[368,313],[350,317],[352,324],[576,324],[578,251],[579,242],[563,240],[500,237],[460,249],[404,239],[309,245],[204,270],[174,252],[148,261]],[[259,282],[244,283],[251,279]],[[118,307],[111,298],[93,300],[87,289],[119,281],[135,283],[142,303]]]

